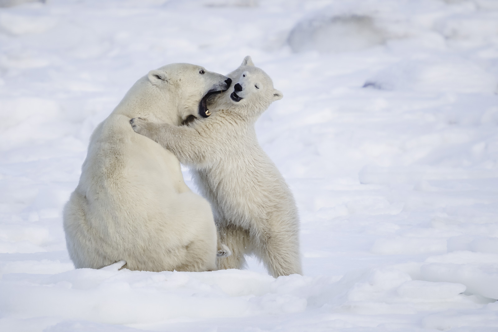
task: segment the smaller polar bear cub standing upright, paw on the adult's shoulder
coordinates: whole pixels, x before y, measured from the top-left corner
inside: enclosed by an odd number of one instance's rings
[[[228,76],[238,82],[210,105],[211,116],[188,126],[143,118],[132,119],[131,125],[191,166],[212,205],[220,239],[232,251],[218,258],[218,268],[243,268],[244,255],[255,254],[274,277],[301,274],[297,208],[254,129],[282,93],[249,56]]]

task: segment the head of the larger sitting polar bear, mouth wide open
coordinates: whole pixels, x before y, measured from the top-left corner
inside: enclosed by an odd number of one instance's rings
[[[232,79],[224,75],[189,63],[173,63],[151,70],[147,78],[157,89],[177,97],[181,118],[194,113],[207,117],[207,99],[226,91],[232,84]]]

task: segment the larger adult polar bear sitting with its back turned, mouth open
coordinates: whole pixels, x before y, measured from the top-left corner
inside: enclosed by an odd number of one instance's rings
[[[205,113],[207,98],[231,82],[200,66],[166,65],[140,78],[97,126],[63,212],[76,268],[120,260],[130,270],[216,268],[217,231],[209,203],[184,183],[174,154],[135,133],[129,119],[178,125]]]

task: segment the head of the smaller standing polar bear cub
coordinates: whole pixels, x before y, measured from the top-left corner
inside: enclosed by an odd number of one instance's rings
[[[244,58],[241,66],[228,74],[233,88],[227,91],[233,106],[242,107],[259,115],[283,94],[273,88],[271,78],[252,63],[250,56]]]

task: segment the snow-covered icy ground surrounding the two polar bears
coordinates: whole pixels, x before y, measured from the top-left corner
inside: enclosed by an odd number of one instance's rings
[[[304,276],[75,270],[61,209],[96,125],[150,69],[246,55],[284,94],[257,131]],[[0,331],[498,331],[497,93],[497,0],[2,7]]]

